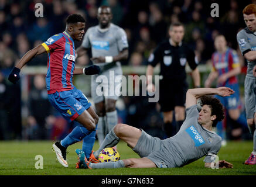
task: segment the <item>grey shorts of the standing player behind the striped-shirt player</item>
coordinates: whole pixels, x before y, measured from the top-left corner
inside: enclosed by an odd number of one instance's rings
[[[97,65],[101,66],[101,64]],[[94,103],[102,102],[105,99],[117,100],[119,98],[121,95],[121,79],[117,79],[118,75],[122,75],[120,63],[100,75],[91,76],[91,98]]]

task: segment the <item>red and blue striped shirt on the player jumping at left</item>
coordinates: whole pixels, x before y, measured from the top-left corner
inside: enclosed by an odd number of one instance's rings
[[[46,88],[48,93],[73,89],[76,60],[74,41],[66,32],[55,34],[42,43],[48,53]]]

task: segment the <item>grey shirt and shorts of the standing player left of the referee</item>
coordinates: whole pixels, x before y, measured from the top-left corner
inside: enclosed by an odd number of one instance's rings
[[[128,48],[127,35],[124,29],[114,25],[113,23],[110,24],[110,27],[105,32],[101,32],[99,26],[94,26],[87,30],[82,46],[86,49],[91,48],[93,57],[117,56],[120,51]],[[98,63],[97,65],[100,65],[101,68],[104,68],[106,65],[108,65],[108,63]],[[111,71],[113,74],[110,73]],[[105,75],[108,81],[103,82],[101,77],[98,78],[98,76],[101,75]],[[117,75],[122,75],[120,62],[115,63],[114,67],[103,71],[101,75],[92,75],[91,77],[91,96],[93,101],[95,103],[104,101],[104,97],[117,100],[118,95],[113,92],[113,89],[115,90],[115,88],[118,86],[118,83],[110,85],[110,82],[112,82],[111,79],[117,77]],[[96,93],[96,88],[98,85],[102,86],[103,88],[107,88],[106,91],[108,92],[103,92],[103,95],[98,95]],[[114,88],[112,86],[114,86]]]

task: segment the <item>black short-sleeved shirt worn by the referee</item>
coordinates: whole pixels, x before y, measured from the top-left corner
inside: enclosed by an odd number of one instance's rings
[[[169,39],[159,44],[148,58],[148,64],[153,67],[161,63],[160,75],[163,79],[186,79],[186,63],[192,70],[197,67],[194,51],[187,44],[172,46]]]

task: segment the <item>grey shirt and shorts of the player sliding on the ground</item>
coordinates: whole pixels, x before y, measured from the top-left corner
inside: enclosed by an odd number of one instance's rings
[[[134,147],[134,151],[138,150],[138,154],[141,154],[143,148],[145,150],[144,155],[140,156],[149,158],[158,168],[182,167],[205,155],[204,162],[215,161],[221,147],[221,137],[197,122],[199,116],[197,105],[187,108],[186,115],[185,122],[175,136],[160,140],[156,137],[143,135],[146,134],[144,132]]]

